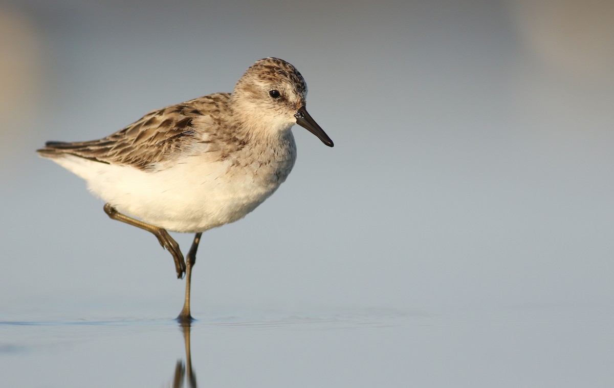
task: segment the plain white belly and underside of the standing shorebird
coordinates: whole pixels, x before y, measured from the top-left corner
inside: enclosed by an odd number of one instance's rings
[[[166,230],[195,233],[243,218],[286,179],[279,166],[232,167],[229,162],[177,164],[161,171],[98,163],[67,155],[54,159],[83,177],[89,190],[119,212]]]

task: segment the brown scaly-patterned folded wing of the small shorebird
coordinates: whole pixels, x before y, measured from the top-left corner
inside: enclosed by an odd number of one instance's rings
[[[179,156],[191,142],[211,143],[208,133],[221,125],[228,93],[216,93],[144,115],[106,138],[84,142],[47,142],[42,156],[71,154],[101,163],[145,169]],[[206,125],[208,124],[208,125]]]

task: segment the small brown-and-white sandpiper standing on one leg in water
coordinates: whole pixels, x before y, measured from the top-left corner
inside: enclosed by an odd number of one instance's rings
[[[231,93],[163,107],[93,141],[48,141],[37,150],[87,182],[114,220],[149,231],[185,276],[177,320],[192,322],[190,285],[201,235],[242,219],[271,196],[297,158],[298,124],[333,141],[306,110],[307,85],[287,61],[263,58]],[[187,255],[168,231],[195,233]]]

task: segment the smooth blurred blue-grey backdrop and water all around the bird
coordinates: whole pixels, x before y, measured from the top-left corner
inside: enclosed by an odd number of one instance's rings
[[[278,56],[335,141],[203,235],[201,386],[609,387],[614,6],[0,3],[0,385],[168,386],[184,282],[34,150]],[[186,250],[191,235],[175,235]]]

